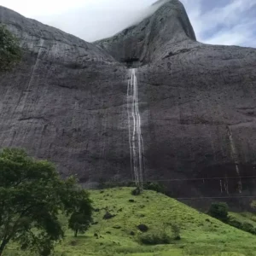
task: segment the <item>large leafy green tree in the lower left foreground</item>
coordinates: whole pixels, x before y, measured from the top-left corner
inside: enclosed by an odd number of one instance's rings
[[[62,180],[53,164],[30,158],[22,149],[0,152],[0,255],[9,241],[49,255],[64,236],[58,214],[73,214],[81,205],[90,218],[89,195],[75,178]]]

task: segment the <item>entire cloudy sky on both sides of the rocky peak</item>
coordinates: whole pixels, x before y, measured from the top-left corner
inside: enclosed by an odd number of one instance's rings
[[[112,36],[142,19],[155,1],[0,0],[0,5],[91,42]],[[256,0],[181,2],[199,41],[256,48]]]

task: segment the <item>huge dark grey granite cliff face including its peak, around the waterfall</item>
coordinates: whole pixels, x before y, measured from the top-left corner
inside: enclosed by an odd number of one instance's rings
[[[87,185],[131,180],[127,84],[137,67],[144,180],[171,179],[176,197],[253,194],[256,49],[201,44],[179,1],[160,4],[95,44],[0,7],[25,49],[1,74],[1,147],[26,148]]]

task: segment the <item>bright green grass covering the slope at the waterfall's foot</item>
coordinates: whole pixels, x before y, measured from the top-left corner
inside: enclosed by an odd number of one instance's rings
[[[73,237],[67,230],[66,239],[55,247],[55,256],[256,256],[256,236],[230,227],[217,219],[154,191],[131,195],[132,188],[91,191],[94,224],[85,235]],[[130,202],[133,199],[135,202]],[[114,218],[104,220],[108,212]],[[232,213],[233,214],[233,213]],[[61,218],[67,225],[67,219]],[[149,231],[165,230],[172,236],[172,224],[181,228],[180,241],[169,245],[145,246],[139,243],[138,224],[146,224]],[[119,229],[116,228],[119,226]],[[114,228],[115,227],[115,228]],[[135,236],[131,236],[131,231]],[[98,239],[95,234],[98,235]],[[30,255],[13,250],[6,256]]]

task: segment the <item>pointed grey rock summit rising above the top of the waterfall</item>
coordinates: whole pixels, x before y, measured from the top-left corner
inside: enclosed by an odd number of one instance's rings
[[[96,42],[117,61],[156,61],[172,50],[185,49],[195,41],[195,32],[183,4],[178,0],[158,1],[153,15],[112,38]]]

